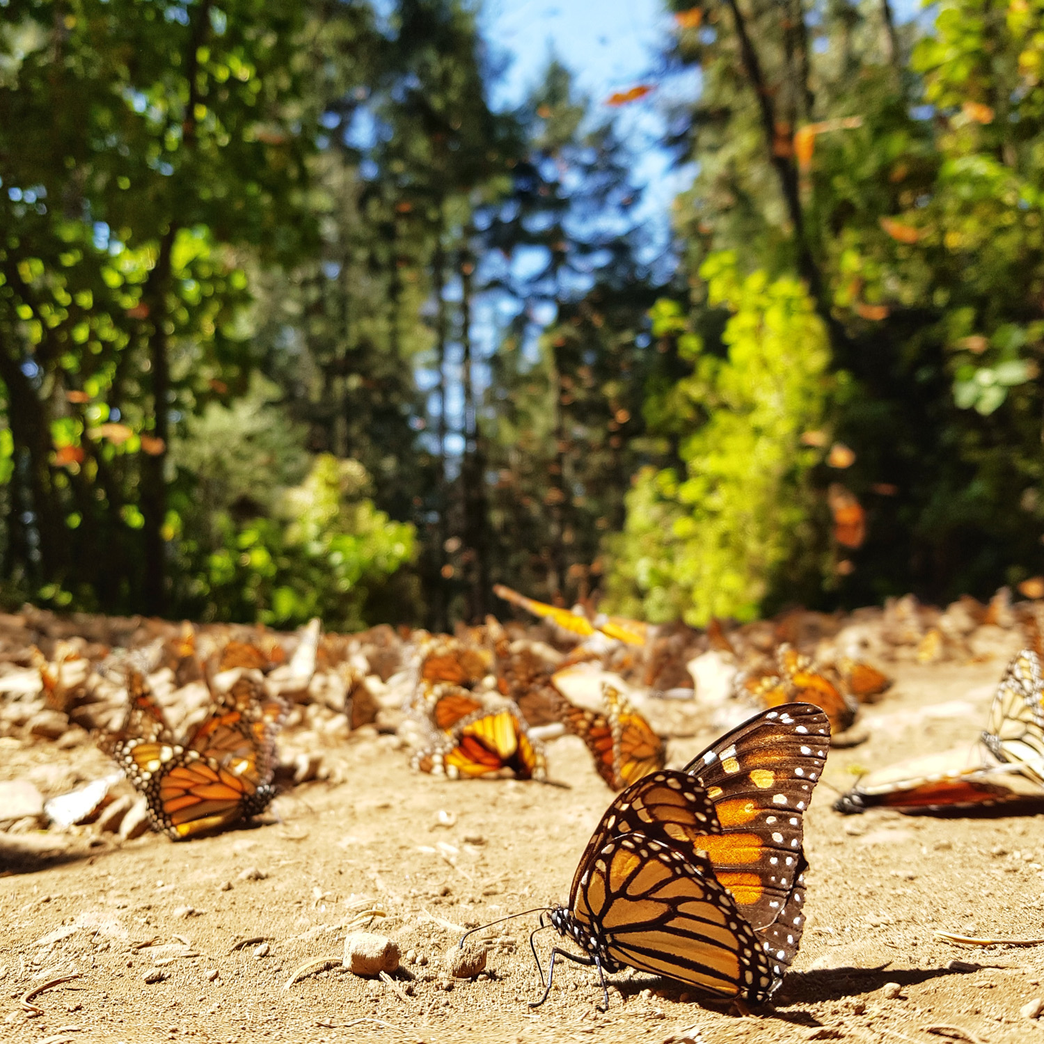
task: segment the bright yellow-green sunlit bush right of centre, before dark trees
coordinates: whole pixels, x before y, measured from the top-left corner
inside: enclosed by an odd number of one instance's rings
[[[681,440],[683,472],[638,474],[608,582],[620,612],[694,626],[755,617],[796,549],[812,543],[817,454],[800,436],[823,423],[830,386],[826,331],[798,280],[744,278],[728,253],[699,275],[708,306],[731,313],[725,355],[701,350],[673,303],[654,308],[655,332],[684,338],[693,362],[670,399],[702,420]]]

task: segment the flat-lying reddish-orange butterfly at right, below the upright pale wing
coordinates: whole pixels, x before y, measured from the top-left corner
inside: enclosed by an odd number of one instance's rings
[[[1003,764],[983,743],[909,758],[870,773],[834,802],[845,815],[874,805],[900,812],[938,812],[1044,798],[1044,789],[1014,764]]]

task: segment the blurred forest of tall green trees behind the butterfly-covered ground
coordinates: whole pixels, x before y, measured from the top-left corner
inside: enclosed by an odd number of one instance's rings
[[[6,0],[5,599],[702,624],[1044,572],[1044,0],[671,14],[628,96],[551,55],[505,109],[459,0]],[[632,100],[695,169],[665,247]]]

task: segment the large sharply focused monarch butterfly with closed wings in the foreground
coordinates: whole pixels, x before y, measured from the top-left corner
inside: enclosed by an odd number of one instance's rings
[[[768,998],[801,943],[803,818],[829,743],[827,716],[793,704],[745,721],[684,770],[619,793],[584,850],[568,905],[550,908],[548,924],[541,914],[541,928],[583,955],[552,949],[531,1006],[547,999],[556,956],[597,970],[602,1011],[603,973],[623,967],[717,997]]]

